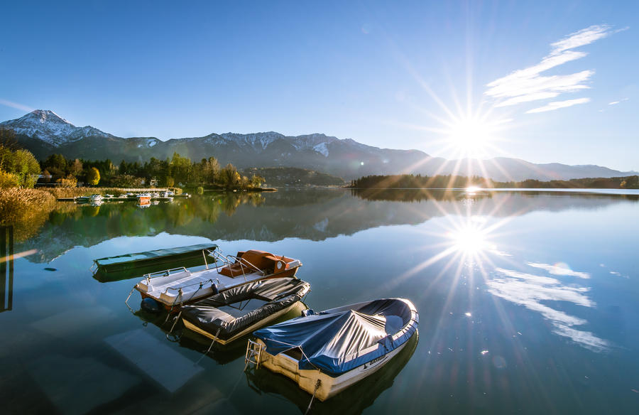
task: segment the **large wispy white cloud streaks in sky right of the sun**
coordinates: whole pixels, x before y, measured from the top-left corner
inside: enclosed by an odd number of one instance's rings
[[[622,29],[623,30],[623,29]],[[589,45],[601,38],[606,38],[613,31],[612,26],[594,25],[570,34],[560,41],[551,43],[550,54],[542,58],[540,63],[529,68],[515,70],[515,72],[488,83],[484,92],[488,97],[497,99],[495,107],[508,107],[542,99],[552,99],[567,92],[578,92],[589,89],[587,85],[594,70],[582,70],[568,75],[542,75],[542,72],[556,68],[564,63],[584,58],[585,52],[572,50],[580,46]],[[575,104],[589,102],[589,98],[570,99],[567,101],[550,102],[544,107],[531,109],[527,114],[552,111],[570,107]]]

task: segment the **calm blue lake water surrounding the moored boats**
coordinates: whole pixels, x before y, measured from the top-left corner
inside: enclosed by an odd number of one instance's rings
[[[0,273],[1,413],[304,413],[310,395],[293,382],[243,372],[246,340],[204,355],[207,341],[139,311],[137,291],[129,311],[139,278],[90,269],[204,242],[301,259],[315,311],[415,303],[418,340],[310,414],[639,408],[639,191],[282,189],[145,209],[60,203],[16,225],[18,258]]]

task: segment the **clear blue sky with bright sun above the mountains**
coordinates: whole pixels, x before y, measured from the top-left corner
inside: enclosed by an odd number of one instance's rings
[[[10,3],[0,120],[639,171],[636,1]]]

